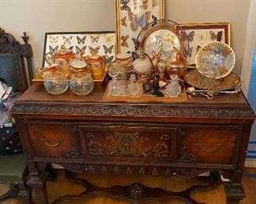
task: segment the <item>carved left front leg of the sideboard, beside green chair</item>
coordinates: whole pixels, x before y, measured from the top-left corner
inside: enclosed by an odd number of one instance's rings
[[[48,204],[48,196],[46,191],[46,182],[39,178],[38,173],[30,173],[27,184],[35,189],[35,194],[41,204]]]

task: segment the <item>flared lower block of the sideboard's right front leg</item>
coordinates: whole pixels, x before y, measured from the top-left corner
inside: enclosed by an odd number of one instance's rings
[[[243,186],[240,183],[223,182],[228,204],[238,204],[245,197]]]

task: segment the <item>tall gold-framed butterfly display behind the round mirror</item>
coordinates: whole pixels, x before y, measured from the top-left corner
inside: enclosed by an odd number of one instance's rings
[[[117,53],[134,51],[143,27],[165,18],[165,0],[115,0],[115,4]]]

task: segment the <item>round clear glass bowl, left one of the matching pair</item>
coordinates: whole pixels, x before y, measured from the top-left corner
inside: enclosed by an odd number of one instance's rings
[[[43,84],[46,91],[54,95],[65,93],[69,88],[69,81],[61,71],[47,74]]]

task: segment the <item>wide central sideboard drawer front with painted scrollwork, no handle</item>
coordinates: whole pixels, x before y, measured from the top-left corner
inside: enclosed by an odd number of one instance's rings
[[[101,124],[80,126],[87,161],[104,158],[113,162],[120,158],[145,164],[152,159],[172,161],[176,156],[176,128],[139,126],[135,124]],[[127,160],[128,161],[128,160]]]

